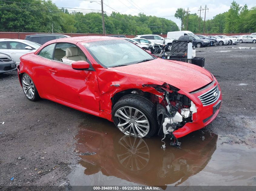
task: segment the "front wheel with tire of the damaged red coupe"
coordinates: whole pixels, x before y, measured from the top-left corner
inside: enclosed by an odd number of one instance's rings
[[[115,103],[112,119],[125,135],[151,137],[159,129],[155,105],[139,95],[126,95]]]

